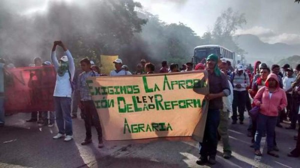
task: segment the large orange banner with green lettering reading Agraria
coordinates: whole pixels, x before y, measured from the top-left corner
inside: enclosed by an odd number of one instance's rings
[[[207,72],[90,77],[104,140],[193,137],[202,141]]]

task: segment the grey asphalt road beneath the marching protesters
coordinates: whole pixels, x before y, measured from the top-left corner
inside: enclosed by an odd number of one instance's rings
[[[107,144],[97,148],[94,144],[81,146],[85,129],[81,119],[73,119],[74,140],[52,140],[56,127],[38,127],[26,123],[30,114],[6,117],[5,127],[0,128],[0,168],[300,168],[300,158],[286,155],[295,147],[296,130],[276,128],[280,158],[266,155],[254,157],[246,137],[248,121],[244,125],[229,125],[232,158],[223,159],[221,142],[218,145],[217,164],[198,166],[197,142],[152,142],[148,144]],[[283,124],[287,126],[286,124]],[[96,135],[93,129],[93,135]]]

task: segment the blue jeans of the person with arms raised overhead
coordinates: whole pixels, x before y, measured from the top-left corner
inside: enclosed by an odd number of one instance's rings
[[[55,97],[54,106],[56,115],[56,124],[59,134],[73,135],[71,119],[71,98]]]

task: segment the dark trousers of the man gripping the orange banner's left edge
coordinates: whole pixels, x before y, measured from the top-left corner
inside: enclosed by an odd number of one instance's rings
[[[84,125],[85,125],[85,139],[91,139],[91,122],[94,124],[95,129],[98,134],[98,140],[99,142],[102,142],[102,129],[98,117],[97,110],[95,108],[95,105],[92,100],[89,101],[81,101],[83,105],[83,112],[82,117],[84,120]]]

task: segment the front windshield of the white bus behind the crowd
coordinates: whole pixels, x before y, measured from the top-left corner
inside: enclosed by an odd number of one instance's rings
[[[215,54],[219,57],[220,48],[212,47],[212,48],[196,48],[194,51],[194,59],[195,63],[199,63],[204,58],[207,58],[208,55]]]

